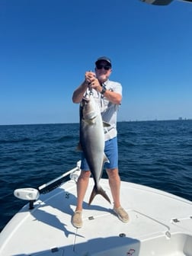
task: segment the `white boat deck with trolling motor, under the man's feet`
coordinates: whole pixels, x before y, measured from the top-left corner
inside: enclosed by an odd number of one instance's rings
[[[123,223],[113,206],[97,195],[83,203],[83,226],[72,226],[80,162],[59,178],[14,195],[27,204],[0,234],[1,256],[192,256],[192,202],[165,191],[121,181]],[[101,186],[110,195],[107,179]],[[111,196],[110,196],[111,199]]]

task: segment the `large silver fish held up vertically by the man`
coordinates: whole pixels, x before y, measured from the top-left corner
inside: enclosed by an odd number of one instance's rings
[[[104,162],[108,162],[104,154],[104,126],[109,125],[103,122],[99,106],[90,93],[80,104],[80,145],[94,179],[88,204],[91,204],[97,194],[101,194],[110,203],[109,197],[99,184]]]

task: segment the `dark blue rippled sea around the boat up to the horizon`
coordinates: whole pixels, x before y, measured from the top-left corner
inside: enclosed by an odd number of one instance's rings
[[[192,120],[119,122],[117,129],[122,181],[192,200]],[[0,231],[24,206],[14,189],[74,168],[77,145],[78,123],[0,126]]]

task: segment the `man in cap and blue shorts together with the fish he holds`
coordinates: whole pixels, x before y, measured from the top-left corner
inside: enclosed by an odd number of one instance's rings
[[[85,72],[85,80],[72,95],[80,104],[80,146],[82,148],[81,174],[77,182],[77,205],[72,224],[82,227],[82,203],[88,188],[89,177],[94,178],[94,189],[89,204],[96,194],[109,197],[99,184],[106,168],[110,191],[114,200],[114,213],[122,222],[129,216],[120,204],[120,175],[118,171],[117,111],[122,100],[122,86],[109,80],[112,65],[103,56],[95,62],[95,72]]]

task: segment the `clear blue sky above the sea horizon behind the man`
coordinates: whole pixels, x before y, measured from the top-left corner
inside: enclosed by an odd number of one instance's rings
[[[118,121],[192,118],[192,4],[1,0],[0,125],[78,123],[72,93],[100,56]]]

